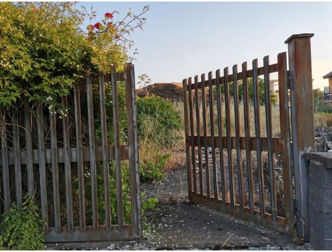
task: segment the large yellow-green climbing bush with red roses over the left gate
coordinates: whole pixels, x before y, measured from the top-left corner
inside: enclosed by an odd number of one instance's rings
[[[58,97],[68,95],[75,80],[108,73],[113,65],[121,70],[131,60],[128,35],[145,23],[141,15],[148,10],[119,21],[113,20],[117,11],[107,12],[93,26],[96,13],[73,2],[0,3],[0,107],[26,97],[59,112]]]

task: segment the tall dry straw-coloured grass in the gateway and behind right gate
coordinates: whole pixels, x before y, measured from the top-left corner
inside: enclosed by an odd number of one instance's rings
[[[153,122],[146,122],[146,134],[140,139],[140,159],[148,159],[155,158],[156,153],[160,152],[162,154],[171,153],[172,156],[168,160],[167,164],[164,166],[164,170],[175,170],[180,169],[185,166],[186,157],[185,157],[185,140],[184,140],[184,110],[183,110],[183,102],[175,102],[175,108],[181,114],[182,118],[182,129],[179,132],[175,132],[179,138],[181,138],[177,144],[171,147],[165,148],[162,142],[158,140],[158,138],[151,137],[151,133],[153,129]],[[215,135],[218,136],[218,119],[217,119],[217,106],[214,104],[214,124],[215,124]],[[243,103],[239,103],[239,125],[240,125],[240,136],[245,136],[244,133],[244,107]],[[261,128],[261,136],[266,137],[266,117],[265,117],[265,106],[260,106],[260,128]],[[196,135],[196,108],[194,106],[194,131]],[[235,115],[234,115],[234,102],[230,104],[230,114],[231,114],[231,135],[235,136]],[[280,112],[279,106],[272,106],[271,108],[272,115],[272,131],[274,136],[278,136],[280,134]],[[203,134],[203,120],[202,120],[202,104],[199,107],[199,113],[201,118],[201,127],[200,131]],[[254,106],[250,106],[250,131],[251,136],[255,136],[255,114],[254,114]],[[318,127],[326,127],[332,125],[332,115],[331,114],[315,114],[314,115],[314,124],[315,128]],[[226,135],[225,129],[225,106],[222,103],[222,119],[223,119],[223,136]],[[209,104],[206,106],[206,121],[207,121],[207,132],[208,135],[211,135],[210,132],[210,107]],[[244,160],[243,160],[244,161]],[[255,164],[253,163],[255,166]]]

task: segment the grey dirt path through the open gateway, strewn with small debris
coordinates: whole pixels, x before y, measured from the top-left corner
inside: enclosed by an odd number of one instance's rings
[[[49,243],[46,249],[60,250],[176,250],[244,249],[309,250],[293,237],[251,222],[242,221],[187,200],[186,171],[169,172],[155,184],[141,185],[144,197],[158,197],[155,209],[146,213],[144,239],[127,242]]]

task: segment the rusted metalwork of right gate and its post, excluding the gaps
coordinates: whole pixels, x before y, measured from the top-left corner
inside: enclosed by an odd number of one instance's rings
[[[263,67],[258,67],[258,60],[253,60],[253,68],[247,70],[247,64],[242,64],[242,72],[237,72],[237,66],[233,67],[233,74],[228,74],[228,68],[224,69],[224,75],[220,76],[220,71],[216,71],[216,78],[212,78],[211,72],[209,73],[209,79],[205,80],[204,74],[202,74],[201,81],[195,81],[193,84],[189,79],[188,84],[183,82],[184,97],[188,94],[189,103],[184,102],[184,110],[192,110],[191,106],[191,92],[195,90],[195,93],[201,89],[202,104],[203,104],[203,123],[205,122],[204,111],[210,106],[210,134],[203,129],[204,134],[200,136],[199,132],[197,136],[194,135],[192,130],[189,135],[189,129],[193,129],[194,120],[193,112],[189,113],[189,119],[186,120],[186,149],[188,157],[190,156],[190,150],[196,148],[208,148],[212,149],[212,155],[215,155],[214,149],[219,148],[219,167],[216,167],[216,172],[220,173],[218,178],[218,189],[221,191],[221,198],[216,194],[205,195],[203,193],[189,190],[189,199],[192,202],[207,205],[209,207],[218,209],[219,211],[227,214],[234,215],[244,220],[252,221],[260,225],[264,225],[280,232],[293,235],[294,232],[294,217],[295,211],[298,212],[297,218],[302,218],[301,221],[297,221],[300,225],[298,232],[302,232],[300,237],[306,237],[304,230],[305,223],[307,223],[307,171],[305,171],[306,165],[303,165],[302,154],[304,152],[314,150],[314,130],[313,130],[313,113],[312,113],[312,76],[311,76],[311,62],[310,62],[310,34],[302,34],[300,36],[293,36],[288,40],[289,43],[289,62],[290,72],[294,83],[287,85],[287,62],[286,53],[280,53],[278,55],[277,64],[269,65],[268,56],[263,59]],[[272,102],[271,102],[271,90],[270,90],[270,78],[271,73],[278,73],[279,81],[279,120],[280,120],[280,137],[274,137],[272,128]],[[260,90],[259,76],[264,76],[264,91]],[[248,85],[248,78],[253,78],[253,104],[250,102],[250,92]],[[243,96],[239,96],[239,80],[242,80]],[[232,82],[234,95],[230,94],[230,82]],[[222,101],[222,89],[224,101]],[[213,86],[216,86],[216,93],[213,93]],[[206,104],[205,100],[205,88],[209,88],[209,101],[210,105]],[[293,134],[293,146],[291,142],[291,130],[289,127],[289,108],[288,108],[288,88],[291,90],[291,107],[292,108],[292,132]],[[260,93],[264,93],[264,103],[261,103]],[[216,96],[216,100],[214,99]],[[302,95],[302,96],[301,96]],[[300,97],[301,96],[301,97]],[[305,97],[305,98],[304,98]],[[230,111],[230,106],[234,101],[234,119]],[[240,135],[240,113],[239,102],[243,99],[244,109],[244,136]],[[213,110],[214,102],[217,106],[217,115]],[[198,98],[195,97],[195,103],[199,104]],[[225,118],[222,118],[222,106],[225,106]],[[250,127],[250,107],[254,109],[254,122],[255,129]],[[260,107],[265,109],[265,122],[266,122],[266,137],[264,132],[261,132],[262,118]],[[302,111],[300,111],[302,109]],[[197,109],[196,109],[197,113]],[[188,115],[188,113],[186,114]],[[232,116],[231,116],[232,115]],[[306,116],[308,115],[308,116]],[[218,120],[218,136],[215,136],[214,124],[215,117]],[[196,115],[196,121],[197,120]],[[232,123],[234,123],[232,125]],[[213,125],[213,126],[212,126]],[[301,127],[299,127],[301,125]],[[303,126],[305,125],[305,126]],[[223,127],[225,127],[226,134],[223,135]],[[234,128],[232,128],[234,127]],[[203,125],[204,128],[204,125]],[[198,129],[198,128],[197,128]],[[232,129],[235,130],[232,134]],[[301,130],[300,130],[301,129]],[[255,135],[251,134],[251,131],[255,131]],[[308,139],[307,139],[308,136]],[[227,162],[224,162],[223,150],[227,150]],[[236,167],[237,167],[237,182],[238,190],[235,187],[234,176],[234,157],[232,150],[236,150]],[[292,153],[293,150],[293,153]],[[245,166],[246,166],[246,183],[244,186],[243,171],[244,166],[241,162],[243,153],[245,151]],[[256,160],[252,160],[252,152],[256,152]],[[264,153],[264,162],[262,159],[262,153],[267,152],[266,159]],[[283,185],[283,197],[278,198],[279,188],[277,191],[276,185],[276,171],[275,162],[276,157],[280,156],[282,164],[282,176],[278,179],[282,179]],[[209,154],[205,154],[205,169],[206,173],[209,171],[208,158]],[[188,180],[191,181],[195,176],[196,160],[195,151],[192,152],[192,164],[187,162],[188,167]],[[294,156],[294,159],[293,159]],[[252,161],[257,162],[257,179],[254,179]],[[210,161],[211,162],[211,161]],[[295,196],[297,198],[297,208],[293,207],[293,178],[292,178],[292,162],[294,162],[295,168]],[[210,166],[213,166],[215,159],[212,160]],[[266,167],[265,167],[266,166]],[[265,167],[265,171],[263,169]],[[214,167],[212,171],[215,172]],[[229,173],[229,176],[225,176],[225,171]],[[194,173],[193,173],[194,172]],[[302,176],[302,178],[301,178]],[[304,177],[303,177],[304,176]],[[268,179],[266,179],[268,177]],[[267,187],[264,186],[264,178],[266,179]],[[195,181],[195,178],[194,178]],[[215,183],[215,177],[213,181],[209,181],[209,177],[203,182],[209,183],[206,185],[208,188]],[[219,187],[220,184],[220,187]],[[229,186],[229,187],[228,187]],[[229,188],[229,190],[228,190]],[[266,190],[267,189],[267,190]],[[257,190],[255,192],[255,190]],[[266,190],[266,192],[265,192]],[[269,195],[265,195],[269,192]],[[257,196],[255,194],[257,193]],[[246,196],[245,196],[246,195]],[[246,198],[245,198],[246,197]],[[278,196],[279,197],[279,196]],[[282,202],[280,202],[280,200]],[[238,202],[238,203],[237,203]],[[268,212],[268,213],[267,213]]]

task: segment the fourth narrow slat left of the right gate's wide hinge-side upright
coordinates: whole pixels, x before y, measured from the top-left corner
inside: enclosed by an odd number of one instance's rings
[[[234,117],[235,117],[235,136],[236,136],[236,160],[238,168],[239,199],[240,209],[244,209],[243,199],[243,171],[242,171],[242,153],[240,141],[240,116],[239,116],[239,86],[237,79],[237,65],[233,66],[233,91],[234,91]]]

